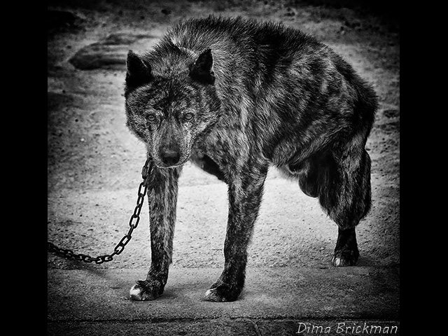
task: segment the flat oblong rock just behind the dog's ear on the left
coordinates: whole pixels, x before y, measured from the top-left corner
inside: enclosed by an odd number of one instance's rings
[[[158,36],[148,34],[111,34],[102,41],[78,50],[69,62],[80,70],[125,70],[127,52],[130,49],[146,50],[157,40]]]

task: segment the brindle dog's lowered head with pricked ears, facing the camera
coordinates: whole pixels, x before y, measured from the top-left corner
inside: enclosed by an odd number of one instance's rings
[[[195,142],[219,117],[211,50],[174,49],[127,55],[127,127],[146,144],[155,165],[183,165]]]

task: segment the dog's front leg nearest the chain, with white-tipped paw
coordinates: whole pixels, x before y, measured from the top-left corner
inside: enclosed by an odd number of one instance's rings
[[[146,280],[132,286],[132,300],[154,300],[162,295],[172,262],[174,223],[181,167],[153,167],[148,176],[149,223],[151,232],[151,267]]]

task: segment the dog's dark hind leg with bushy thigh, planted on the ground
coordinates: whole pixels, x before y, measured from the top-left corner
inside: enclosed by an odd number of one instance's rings
[[[356,265],[355,227],[370,210],[370,157],[365,142],[353,139],[327,155],[319,171],[319,202],[339,227],[332,264]]]

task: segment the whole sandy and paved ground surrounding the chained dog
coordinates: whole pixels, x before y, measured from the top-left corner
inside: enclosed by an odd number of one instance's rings
[[[151,261],[145,200],[139,227],[112,262],[48,253],[48,335],[400,334],[399,25],[353,1],[313,2],[50,1],[48,240],[76,253],[111,253],[128,230],[145,151],[125,127],[123,57],[180,18],[238,14],[307,31],[374,85],[380,108],[367,141],[373,203],[357,228],[356,267],[330,265],[335,223],[272,169],[241,297],[203,301],[223,267],[227,188],[187,164],[162,297],[129,300]]]

